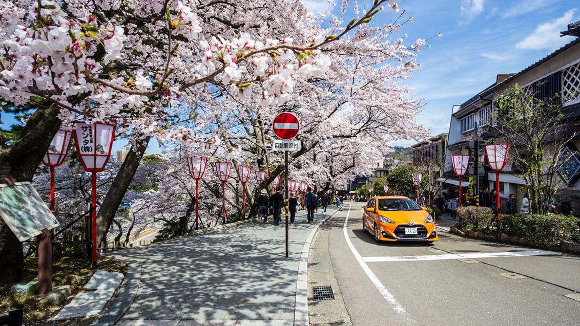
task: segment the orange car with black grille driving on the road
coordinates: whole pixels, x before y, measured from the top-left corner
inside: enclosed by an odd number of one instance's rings
[[[372,232],[377,242],[439,240],[426,210],[404,196],[371,197],[362,213],[362,230]]]

